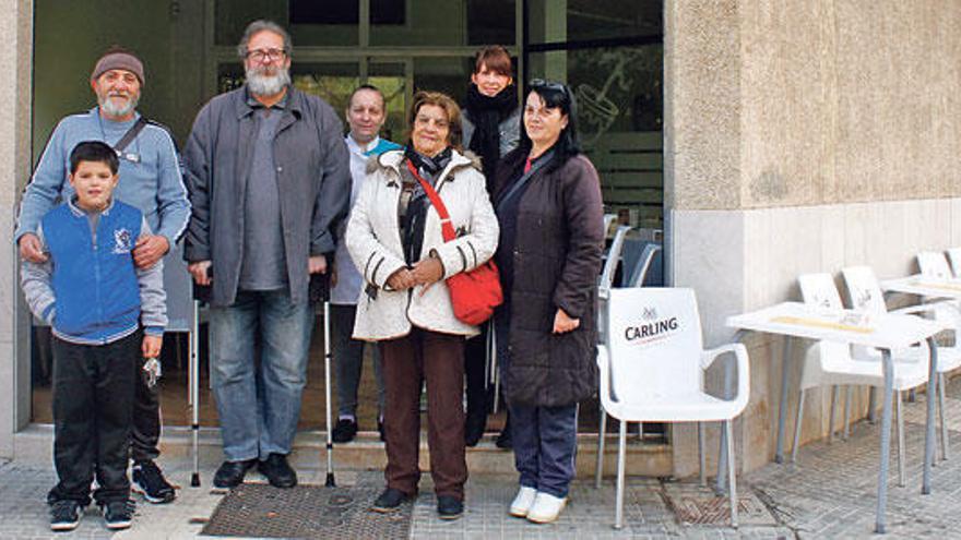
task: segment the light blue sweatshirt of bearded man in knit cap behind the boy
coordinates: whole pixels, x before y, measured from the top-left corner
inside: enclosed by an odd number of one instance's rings
[[[70,201],[70,153],[83,141],[117,144],[133,125],[135,118],[115,122],[99,115],[94,107],[87,112],[60,120],[40,156],[31,183],[20,206],[14,240],[26,232],[36,232],[40,219],[59,203]],[[166,129],[149,123],[123,149],[120,157],[120,183],[114,199],[143,213],[151,229],[167,238],[170,248],[187,228],[190,202],[180,175],[177,147]]]

